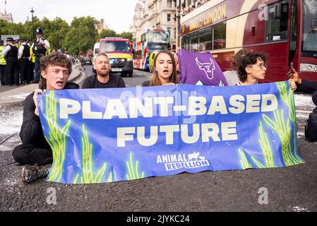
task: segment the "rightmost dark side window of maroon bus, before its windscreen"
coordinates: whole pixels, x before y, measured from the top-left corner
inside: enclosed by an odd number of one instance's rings
[[[287,40],[288,1],[281,1],[282,17],[274,18],[274,6],[268,6],[268,20],[266,21],[266,42]]]

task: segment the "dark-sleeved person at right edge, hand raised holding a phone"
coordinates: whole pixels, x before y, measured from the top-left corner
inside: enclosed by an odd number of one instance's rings
[[[288,78],[293,79],[297,84],[297,91],[312,93],[313,95],[311,95],[311,98],[313,99],[313,103],[317,106],[317,82],[299,78],[299,74],[295,71],[295,69],[289,70],[287,76]],[[317,113],[317,107],[313,109],[313,113]]]

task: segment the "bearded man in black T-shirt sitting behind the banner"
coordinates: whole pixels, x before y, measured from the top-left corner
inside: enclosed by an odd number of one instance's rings
[[[94,65],[96,75],[85,78],[81,88],[125,88],[124,80],[120,76],[110,74],[110,68],[107,54],[99,54],[95,59]]]

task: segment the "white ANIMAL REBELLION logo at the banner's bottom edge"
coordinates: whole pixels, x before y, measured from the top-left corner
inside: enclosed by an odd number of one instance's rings
[[[199,167],[210,166],[209,161],[200,153],[193,152],[191,154],[177,155],[158,155],[157,163],[164,163],[167,171],[177,169],[196,169]]]

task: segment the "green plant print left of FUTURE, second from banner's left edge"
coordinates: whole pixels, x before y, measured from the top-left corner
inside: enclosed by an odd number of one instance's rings
[[[106,172],[107,162],[102,165],[100,169],[97,170],[97,173],[94,173],[93,165],[92,165],[92,143],[89,141],[88,131],[85,129],[85,125],[83,125],[83,136],[81,138],[82,143],[82,169],[83,174],[79,179],[79,174],[76,175],[73,180],[73,184],[95,184],[101,183],[102,178]],[[78,181],[79,179],[79,181]],[[107,182],[112,182],[112,172],[109,174],[109,178]]]

